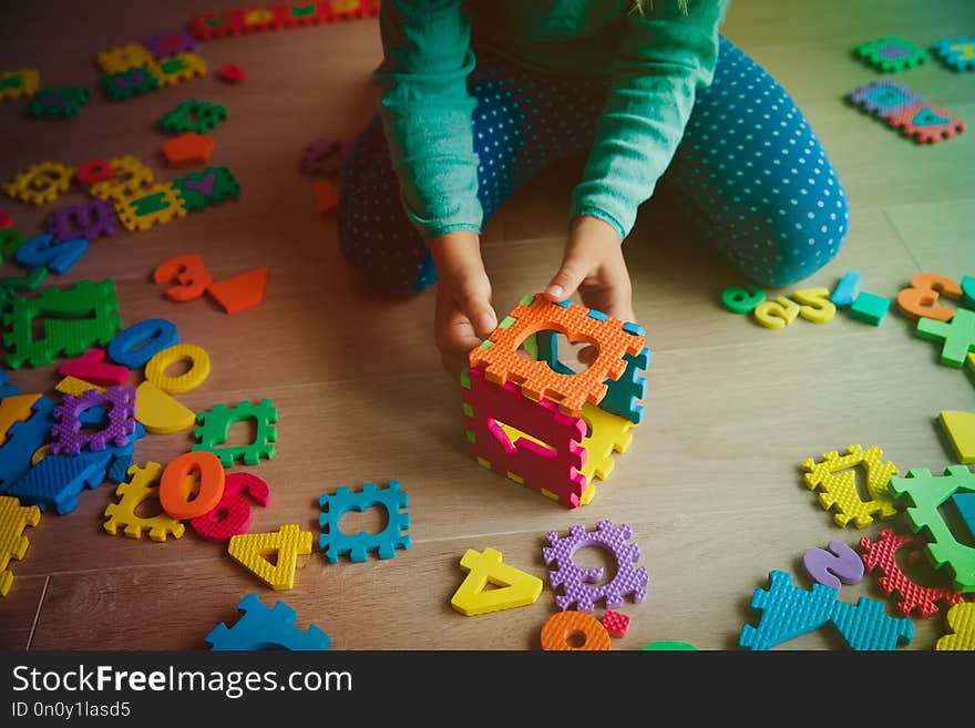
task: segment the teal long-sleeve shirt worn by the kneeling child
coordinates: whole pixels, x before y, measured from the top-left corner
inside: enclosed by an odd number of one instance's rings
[[[609,80],[571,217],[604,219],[622,240],[674,156],[696,92],[711,82],[729,2],[383,0],[380,115],[421,235],[481,229],[472,38],[542,73]]]

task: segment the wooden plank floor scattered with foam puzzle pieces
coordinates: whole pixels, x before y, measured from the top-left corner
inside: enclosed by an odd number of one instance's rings
[[[96,51],[239,4],[174,0],[133,12],[131,3],[111,0],[85,14],[78,3],[8,3],[0,69],[35,66],[44,84],[93,86]],[[953,278],[975,271],[975,133],[921,147],[842,101],[878,78],[850,58],[856,43],[900,33],[926,44],[973,28],[965,0],[749,0],[731,9],[726,34],[794,95],[849,193],[851,235],[803,286],[832,287],[855,268],[866,290],[892,297],[920,270]],[[718,296],[745,281],[723,263],[707,262],[714,256],[697,252],[678,223],[648,205],[626,245],[638,320],[654,350],[647,418],[630,451],[595,502],[576,511],[478,468],[464,449],[459,388],[433,347],[433,295],[371,294],[342,260],[335,219],[316,212],[310,183],[297,171],[311,139],[351,136],[370,117],[376,21],[216,40],[201,54],[212,71],[244,65],[247,82],[225,85],[211,74],[117,104],[95,91],[69,121],[32,121],[20,115],[19,102],[0,104],[0,177],[42,160],[74,165],[132,154],[171,178],[154,120],[189,98],[225,104],[229,120],[215,132],[213,162],[234,171],[243,197],[151,232],[100,239],[52,283],[111,277],[125,325],[170,318],[184,342],[204,346],[213,373],[181,397],[188,407],[274,400],[277,457],[248,469],[271,488],[270,504],[255,509],[253,531],[297,523],[317,533],[319,494],[397,479],[409,492],[413,546],[361,564],[330,565],[312,554],[294,591],[275,593],[192,530],[165,544],[106,535],[102,512],[114,499],[103,485],[70,515],[47,514],[29,530],[30,550],[11,565],[13,589],[0,598],[0,647],[205,648],[213,626],[233,622],[237,601],[257,592],[268,603],[284,598],[300,626],[317,624],[339,649],[537,648],[540,627],[555,611],[552,591],[546,586],[528,607],[464,617],[449,605],[463,577],[458,561],[468,548],[491,546],[544,576],[546,532],[609,519],[633,526],[650,574],[646,601],[622,608],[633,624],[614,648],[678,639],[730,649],[742,624],[757,622],[749,601],[771,570],[807,585],[803,551],[832,539],[852,545],[880,531],[833,524],[803,485],[807,457],[875,443],[902,472],[938,472],[953,462],[935,418],[943,409],[972,410],[975,380],[940,366],[935,346],[915,338],[911,321],[892,314],[873,328],[841,312],[825,326],[799,320],[771,331],[732,316]],[[975,123],[975,75],[932,62],[899,80]],[[484,257],[499,311],[554,271],[578,170],[572,161],[534,180],[488,226]],[[82,198],[74,192],[59,205]],[[28,233],[51,208],[0,202]],[[183,253],[203,255],[215,277],[269,265],[264,304],[228,317],[205,299],[170,303],[148,275]],[[14,270],[6,265],[0,273]],[[50,391],[54,369],[11,378],[22,391]],[[150,435],[136,445],[137,461],[166,462],[191,443],[188,432]],[[890,523],[904,529],[901,517]],[[372,512],[342,523],[347,531],[378,524]],[[597,565],[601,556],[581,552],[578,562]],[[925,577],[940,583],[918,575]],[[873,576],[844,586],[841,597],[860,595],[884,598]],[[887,604],[899,614],[895,599]],[[911,648],[933,648],[946,632],[944,611],[916,627]],[[787,647],[841,645],[824,632]]]

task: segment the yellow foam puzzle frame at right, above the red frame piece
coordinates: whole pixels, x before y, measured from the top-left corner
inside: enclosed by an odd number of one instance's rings
[[[873,522],[873,516],[890,519],[897,509],[887,491],[891,475],[897,474],[897,466],[884,462],[883,450],[871,445],[864,450],[859,444],[846,448],[846,454],[835,450],[823,454],[822,461],[807,458],[802,463],[803,475],[809,490],[820,490],[819,502],[823,510],[835,511],[833,521],[841,529],[852,523],[863,529]],[[866,490],[871,500],[864,501],[856,489],[858,465],[866,470]]]

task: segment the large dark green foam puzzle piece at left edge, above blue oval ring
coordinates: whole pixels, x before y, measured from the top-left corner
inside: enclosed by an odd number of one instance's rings
[[[58,317],[63,317],[59,319]],[[44,337],[33,338],[33,321],[45,317]],[[37,298],[18,297],[3,315],[7,366],[43,367],[55,356],[78,357],[106,346],[122,328],[115,284],[79,280],[72,288],[48,289]]]

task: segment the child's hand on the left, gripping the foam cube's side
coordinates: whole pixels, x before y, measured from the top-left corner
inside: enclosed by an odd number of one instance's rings
[[[433,337],[444,368],[460,377],[468,353],[497,326],[481,240],[474,233],[448,233],[430,240],[430,254],[439,276]]]

